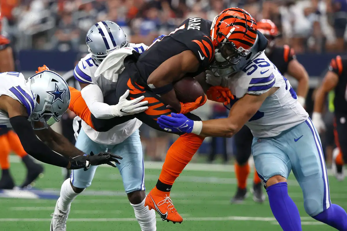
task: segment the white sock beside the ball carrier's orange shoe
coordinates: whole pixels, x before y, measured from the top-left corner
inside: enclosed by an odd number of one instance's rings
[[[146,199],[146,198],[145,198]],[[148,206],[145,207],[145,199],[137,205],[130,203],[135,212],[135,217],[142,231],[156,231],[156,219],[154,209],[148,210]]]

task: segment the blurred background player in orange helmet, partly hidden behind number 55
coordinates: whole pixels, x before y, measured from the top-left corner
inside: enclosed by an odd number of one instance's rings
[[[282,73],[288,73],[298,81],[296,89],[297,100],[304,106],[305,98],[308,91],[308,74],[305,68],[296,60],[295,53],[288,45],[276,46],[276,37],[278,29],[276,25],[269,19],[262,19],[257,23],[258,30],[268,39],[269,43],[265,49],[265,54],[269,60]],[[251,155],[251,145],[253,135],[247,126],[243,126],[241,130],[234,135],[236,146],[236,163],[235,174],[237,177],[237,191],[234,197],[231,198],[231,203],[242,202],[247,195],[247,178],[250,172],[248,159]],[[263,202],[263,187],[257,172],[254,170],[253,176],[253,200]]]

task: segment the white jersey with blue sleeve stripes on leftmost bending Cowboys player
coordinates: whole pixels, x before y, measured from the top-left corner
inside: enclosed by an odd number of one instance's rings
[[[0,73],[0,96],[9,96],[24,105],[28,116],[35,108],[35,96],[20,72]],[[0,127],[12,127],[8,114],[0,110]]]

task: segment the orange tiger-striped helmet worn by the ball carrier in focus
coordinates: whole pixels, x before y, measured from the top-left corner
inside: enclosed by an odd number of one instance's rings
[[[251,52],[256,36],[257,24],[244,9],[232,7],[223,10],[213,19],[211,38],[217,62],[230,66],[238,63]]]

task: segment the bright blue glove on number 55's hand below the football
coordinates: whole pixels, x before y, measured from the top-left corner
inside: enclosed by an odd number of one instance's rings
[[[194,121],[188,119],[183,114],[176,113],[171,113],[171,117],[161,115],[158,118],[157,123],[163,130],[175,133],[191,133],[194,126]]]

